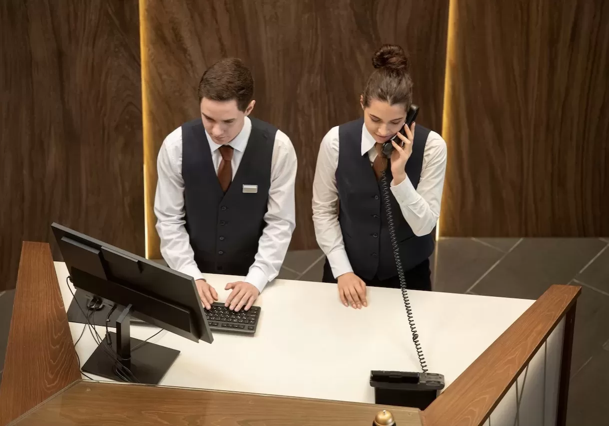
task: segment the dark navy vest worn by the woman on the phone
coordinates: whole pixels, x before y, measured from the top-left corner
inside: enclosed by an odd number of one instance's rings
[[[389,279],[398,274],[387,225],[382,181],[377,181],[368,154],[362,155],[364,119],[339,126],[339,163],[336,186],[339,194],[339,222],[345,250],[354,273],[364,279]],[[412,155],[406,162],[406,175],[415,189],[421,178],[423,152],[429,129],[417,125]],[[389,161],[388,161],[389,163]],[[387,183],[393,179],[387,165]],[[434,251],[432,234],[417,237],[404,219],[400,205],[389,188],[393,223],[404,270],[428,259]]]

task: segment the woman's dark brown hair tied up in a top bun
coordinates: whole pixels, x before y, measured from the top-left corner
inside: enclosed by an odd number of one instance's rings
[[[403,103],[409,108],[412,103],[412,79],[408,74],[410,61],[400,46],[383,44],[372,57],[372,72],[364,88],[364,106],[378,99],[389,105]]]

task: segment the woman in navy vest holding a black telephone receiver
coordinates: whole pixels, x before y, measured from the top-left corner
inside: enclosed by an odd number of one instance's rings
[[[313,222],[326,254],[324,282],[338,284],[345,306],[367,306],[366,286],[400,287],[384,203],[387,180],[393,227],[407,288],[431,290],[429,256],[446,170],[446,144],[422,126],[405,125],[412,103],[409,60],[385,44],[372,58],[361,95],[364,117],[331,128],[322,140],[313,183]],[[389,159],[384,142],[399,134]]]

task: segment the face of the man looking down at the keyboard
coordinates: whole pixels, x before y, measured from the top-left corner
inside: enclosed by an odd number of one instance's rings
[[[256,101],[252,100],[246,110],[241,111],[235,99],[211,100],[204,97],[200,105],[201,119],[211,140],[218,145],[232,141],[243,128],[245,116],[250,115],[254,103]]]

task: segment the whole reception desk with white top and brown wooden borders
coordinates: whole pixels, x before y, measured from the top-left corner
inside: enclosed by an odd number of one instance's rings
[[[144,386],[82,380],[77,359],[96,344],[83,324],[68,324],[66,276],[48,245],[24,243],[0,425],[363,426],[381,409],[402,426],[565,424],[579,287],[554,285],[537,301],[410,292],[429,371],[446,379],[420,411],[374,405],[368,383],[371,369],[420,368],[398,290],[370,288],[369,306],[354,310],[334,285],[276,280],[257,302],[253,337],[214,333],[207,344],[158,333],[153,343],[181,353],[161,386]],[[209,276],[219,290],[233,280]],[[132,326],[144,340],[157,332]]]

